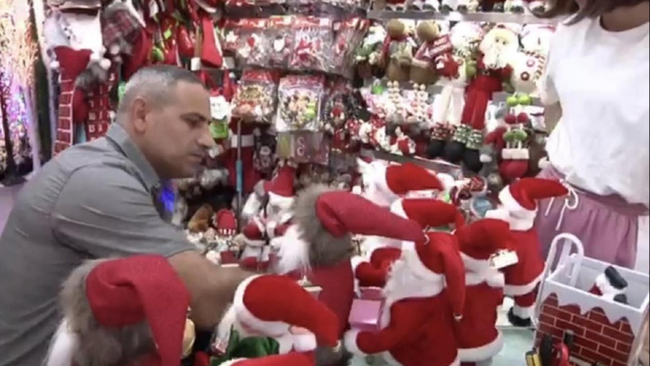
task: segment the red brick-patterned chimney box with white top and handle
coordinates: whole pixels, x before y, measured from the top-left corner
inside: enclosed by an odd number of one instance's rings
[[[549,266],[560,244],[565,246],[558,264]],[[572,244],[577,253],[571,254]],[[559,236],[553,244],[539,291],[536,346],[545,334],[559,342],[571,330],[575,333],[574,359],[603,366],[637,365],[648,326],[650,278],[616,267],[629,284],[629,305],[605,300],[589,290],[610,264],[584,258],[582,253],[582,243],[570,235]]]

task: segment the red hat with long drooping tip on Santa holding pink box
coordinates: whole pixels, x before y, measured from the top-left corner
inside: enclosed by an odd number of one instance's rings
[[[454,235],[436,232],[427,234],[428,241],[405,243],[403,258],[419,278],[441,282],[456,318],[465,309],[465,266],[460,256],[458,240]],[[441,277],[444,276],[444,281]]]

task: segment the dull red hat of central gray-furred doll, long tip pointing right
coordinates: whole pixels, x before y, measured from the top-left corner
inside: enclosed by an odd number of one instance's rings
[[[323,227],[338,238],[353,233],[406,241],[424,239],[418,223],[345,191],[320,195],[316,200],[316,216]]]

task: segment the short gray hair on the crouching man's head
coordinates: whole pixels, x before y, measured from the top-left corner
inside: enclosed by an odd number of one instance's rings
[[[124,96],[118,107],[118,116],[128,113],[136,98],[146,98],[156,105],[171,102],[178,83],[203,85],[193,72],[170,65],[155,65],[140,69],[126,84]]]

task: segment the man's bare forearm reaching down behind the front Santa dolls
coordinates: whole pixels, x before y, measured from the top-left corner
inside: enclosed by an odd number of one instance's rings
[[[253,275],[239,268],[217,267],[197,252],[174,255],[169,262],[192,296],[190,317],[204,330],[216,327],[239,284]]]

